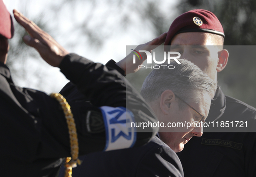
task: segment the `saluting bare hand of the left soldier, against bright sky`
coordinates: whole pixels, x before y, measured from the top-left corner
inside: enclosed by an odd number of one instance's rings
[[[23,37],[24,42],[27,45],[36,48],[41,57],[48,64],[58,67],[64,56],[69,54],[69,52],[59,45],[52,36],[23,16],[18,10],[13,10],[13,15],[16,21],[23,26],[30,35],[25,35]]]

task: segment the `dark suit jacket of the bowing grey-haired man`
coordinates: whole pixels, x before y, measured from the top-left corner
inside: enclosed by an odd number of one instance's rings
[[[139,148],[91,153],[73,169],[72,177],[183,177],[175,152],[159,138]],[[64,177],[62,166],[59,177]]]

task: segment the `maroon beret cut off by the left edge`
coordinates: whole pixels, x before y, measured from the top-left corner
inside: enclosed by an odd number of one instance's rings
[[[0,35],[11,39],[14,34],[13,19],[6,6],[3,3],[3,0],[0,0]]]

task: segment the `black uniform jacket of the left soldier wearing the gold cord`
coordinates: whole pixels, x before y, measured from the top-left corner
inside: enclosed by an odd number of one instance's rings
[[[99,128],[97,133],[88,132],[88,127],[95,127],[85,122],[87,110],[101,113],[100,106],[123,106],[133,112],[136,121],[156,120],[142,97],[116,70],[75,54],[66,55],[60,69],[91,102],[88,105],[68,100],[77,125],[81,155],[102,151],[106,145],[103,120],[95,126]],[[140,119],[138,111],[150,119]],[[71,156],[68,126],[58,101],[38,90],[13,84],[9,68],[3,63],[0,63],[0,120],[0,177],[52,177],[62,158]],[[152,131],[137,133],[134,146],[148,142],[155,135]]]

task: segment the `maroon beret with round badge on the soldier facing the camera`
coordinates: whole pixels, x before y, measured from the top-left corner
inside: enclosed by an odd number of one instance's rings
[[[170,26],[165,45],[170,45],[172,38],[182,32],[210,32],[225,37],[217,16],[202,9],[191,10],[178,16]]]

